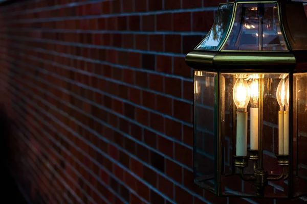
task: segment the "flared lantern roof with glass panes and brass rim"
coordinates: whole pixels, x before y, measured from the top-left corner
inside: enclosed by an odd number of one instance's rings
[[[220,4],[214,24],[186,57],[195,69],[307,71],[307,18],[302,2]]]

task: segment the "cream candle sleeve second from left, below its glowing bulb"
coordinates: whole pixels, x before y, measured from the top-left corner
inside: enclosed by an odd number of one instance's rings
[[[258,149],[259,108],[251,108],[251,149]]]

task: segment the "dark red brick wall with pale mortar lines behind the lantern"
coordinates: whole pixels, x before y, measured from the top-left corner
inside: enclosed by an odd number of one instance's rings
[[[32,202],[261,202],[217,198],[193,184],[184,57],[223,2],[30,0],[1,8],[0,102],[12,121],[11,169]]]

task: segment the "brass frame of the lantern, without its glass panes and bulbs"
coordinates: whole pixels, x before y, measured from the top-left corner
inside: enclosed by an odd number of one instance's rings
[[[274,3],[278,5],[278,18],[280,22],[280,28],[282,35],[285,39],[285,44],[288,48],[288,50],[282,50],[282,51],[262,51],[262,50],[223,50],[223,47],[225,46],[230,33],[234,26],[235,21],[235,15],[237,6],[239,4],[265,4],[265,3]],[[215,154],[215,171],[214,171],[214,182],[215,187],[214,189],[209,186],[204,186],[201,181],[194,180],[194,183],[205,188],[206,190],[211,191],[212,193],[217,194],[218,196],[236,196],[236,195],[224,195],[222,193],[221,189],[221,174],[222,174],[222,155],[221,155],[221,85],[220,85],[220,75],[221,73],[288,73],[289,74],[289,85],[290,85],[290,98],[293,99],[293,74],[294,73],[300,73],[300,72],[307,72],[307,46],[306,48],[300,48],[295,47],[295,41],[293,38],[289,37],[292,35],[292,31],[289,27],[288,21],[286,19],[292,19],[291,15],[287,15],[286,12],[286,6],[292,5],[293,7],[297,9],[302,9],[303,6],[302,3],[299,2],[289,2],[286,0],[275,0],[275,1],[235,1],[234,3],[225,3],[220,5],[228,5],[233,4],[233,12],[232,17],[230,20],[230,23],[227,27],[226,35],[223,38],[222,42],[216,49],[200,49],[197,48],[199,46],[196,46],[196,48],[186,56],[186,63],[190,67],[192,67],[195,71],[212,71],[217,73],[215,81],[214,81],[214,87],[215,87],[215,116],[216,120],[214,121],[215,124],[215,137],[214,137],[214,154]],[[216,16],[217,18],[217,16]],[[305,16],[301,16],[300,19],[293,19],[296,21],[302,21],[306,22],[307,20]],[[215,19],[216,21],[216,19]],[[213,27],[209,31],[212,32]],[[307,36],[307,30],[305,35]],[[206,39],[206,38],[205,38]],[[204,40],[205,40],[204,39]],[[204,41],[203,40],[203,41]],[[202,41],[202,42],[203,42]],[[202,42],[200,44],[202,44]],[[307,43],[307,42],[306,42]],[[200,45],[199,44],[199,45]],[[195,80],[195,79],[193,79]],[[195,83],[195,82],[194,82]],[[261,89],[260,89],[261,90]],[[261,98],[261,97],[260,97]],[[260,99],[261,100],[261,99]],[[259,101],[259,109],[262,109],[262,101]],[[195,103],[194,103],[194,110],[195,110]],[[262,114],[260,114],[259,111],[259,124],[262,124]],[[196,114],[194,114],[194,122],[196,121]],[[289,164],[289,175],[276,175],[273,180],[278,179],[288,179],[288,185],[289,185],[289,191],[288,191],[288,198],[297,198],[301,196],[307,195],[307,192],[304,194],[301,194],[299,196],[294,196],[293,193],[293,103],[290,103],[289,106],[289,157],[284,156],[277,156],[278,159],[278,165],[280,166],[287,166]],[[194,125],[194,147],[196,146],[196,125]],[[250,160],[253,160],[254,157],[254,165],[257,165],[258,167],[262,167],[262,125],[259,125],[259,150],[258,152],[251,152],[250,151]],[[258,153],[258,154],[257,154]],[[195,162],[196,158],[196,148],[194,148],[193,152],[193,162]],[[257,159],[255,159],[257,158]],[[240,166],[239,162],[242,162],[242,167],[245,166],[244,163],[246,159],[243,160],[237,160],[237,167]],[[195,168],[195,167],[194,167]],[[241,171],[243,172],[243,171]],[[194,177],[195,177],[194,172]],[[253,176],[249,177],[250,180],[261,180],[263,179],[264,175],[262,175],[264,172],[259,172],[259,176],[257,178],[253,178]],[[242,176],[244,177],[243,173]],[[265,178],[266,181],[263,181],[263,183],[266,183],[267,180],[270,179],[269,176]],[[272,177],[271,177],[272,179]],[[261,183],[262,181],[260,181]],[[242,196],[240,197],[249,197],[249,198],[259,198],[264,197],[263,194],[261,194],[261,190],[259,191],[259,194],[255,196]],[[276,198],[276,197],[270,197],[266,196],[266,198]]]

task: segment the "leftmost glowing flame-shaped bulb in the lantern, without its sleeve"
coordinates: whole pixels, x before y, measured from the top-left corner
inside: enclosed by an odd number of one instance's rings
[[[233,100],[239,112],[245,112],[250,100],[250,89],[243,78],[239,78],[233,88]]]

